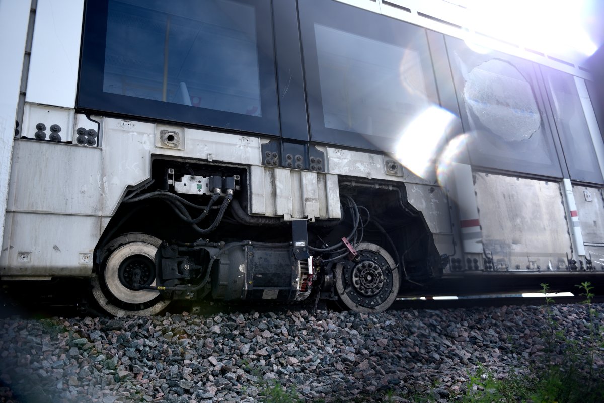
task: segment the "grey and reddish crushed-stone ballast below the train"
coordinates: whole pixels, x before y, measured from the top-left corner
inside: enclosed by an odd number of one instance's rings
[[[557,305],[552,315],[567,337],[589,334],[586,306]],[[276,379],[306,401],[372,401],[392,390],[396,401],[444,403],[479,364],[496,378],[527,369],[544,354],[547,326],[543,306],[13,317],[0,320],[0,402],[252,402]]]

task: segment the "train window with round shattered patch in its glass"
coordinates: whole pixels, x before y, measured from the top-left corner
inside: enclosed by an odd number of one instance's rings
[[[562,175],[536,95],[536,75],[526,60],[500,52],[475,52],[446,38],[468,149],[474,165],[547,176]]]

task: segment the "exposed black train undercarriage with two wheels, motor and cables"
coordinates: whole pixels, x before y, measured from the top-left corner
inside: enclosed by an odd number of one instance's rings
[[[403,185],[344,179],[341,218],[284,221],[248,214],[246,178],[237,167],[155,160],[95,251],[101,308],[146,316],[171,300],[321,298],[376,313],[442,274],[446,259]]]

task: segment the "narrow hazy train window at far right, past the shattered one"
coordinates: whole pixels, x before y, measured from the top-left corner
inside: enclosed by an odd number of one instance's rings
[[[571,179],[602,183],[602,173],[573,76],[541,66]]]

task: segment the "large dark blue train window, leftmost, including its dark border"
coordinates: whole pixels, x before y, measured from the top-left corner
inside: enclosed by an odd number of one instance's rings
[[[269,0],[87,2],[82,109],[278,135]]]

